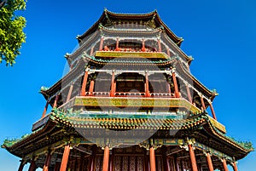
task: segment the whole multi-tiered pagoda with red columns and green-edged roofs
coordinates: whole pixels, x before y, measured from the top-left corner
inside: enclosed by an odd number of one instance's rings
[[[253,151],[226,135],[218,94],[191,74],[183,39],[156,11],[105,9],[77,38],[70,71],[40,90],[46,105],[32,134],[2,145],[20,157],[19,171],[237,171]]]

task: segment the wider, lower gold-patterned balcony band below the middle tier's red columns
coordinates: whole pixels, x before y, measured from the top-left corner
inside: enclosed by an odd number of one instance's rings
[[[101,94],[97,92],[97,94]],[[193,113],[201,112],[195,105],[189,103],[183,98],[170,98],[167,96],[161,97],[143,97],[139,94],[124,94],[116,93],[114,97],[97,96],[96,92],[89,96],[76,96],[59,108],[68,109],[74,106],[104,106],[104,107],[144,107],[144,108],[162,108],[162,107],[182,107]]]

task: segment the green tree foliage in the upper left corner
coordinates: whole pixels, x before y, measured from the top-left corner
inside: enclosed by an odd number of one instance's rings
[[[26,19],[16,14],[25,9],[26,0],[8,0],[0,9],[0,62],[5,60],[6,66],[15,64],[21,44],[25,43]]]

